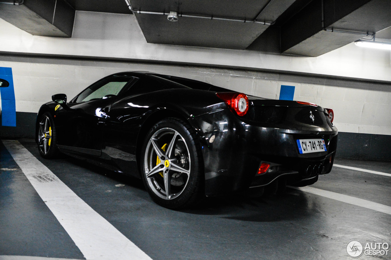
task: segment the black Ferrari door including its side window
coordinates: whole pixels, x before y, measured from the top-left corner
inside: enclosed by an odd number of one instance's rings
[[[57,109],[57,146],[71,152],[100,156],[106,113],[131,81],[133,77],[106,77],[69,102],[70,109]]]

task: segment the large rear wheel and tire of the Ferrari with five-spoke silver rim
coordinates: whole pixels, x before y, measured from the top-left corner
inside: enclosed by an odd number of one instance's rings
[[[190,124],[178,118],[159,121],[147,133],[141,151],[143,183],[157,204],[188,208],[203,198],[201,145]]]

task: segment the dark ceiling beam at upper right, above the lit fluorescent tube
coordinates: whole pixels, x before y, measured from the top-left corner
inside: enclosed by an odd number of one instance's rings
[[[389,0],[313,0],[282,25],[281,51],[320,56],[389,27],[390,10]]]

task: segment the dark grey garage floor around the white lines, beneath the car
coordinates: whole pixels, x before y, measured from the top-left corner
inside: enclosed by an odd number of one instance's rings
[[[282,196],[230,195],[168,210],[152,202],[138,179],[66,156],[45,160],[35,143],[21,143],[154,260],[351,259],[350,240],[391,244],[387,213],[292,188]],[[0,255],[84,259],[1,142],[0,156]],[[335,163],[391,173],[390,162]],[[391,206],[389,176],[334,167],[311,186]]]

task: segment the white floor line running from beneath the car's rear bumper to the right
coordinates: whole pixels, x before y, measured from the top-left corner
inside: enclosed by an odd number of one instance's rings
[[[330,192],[328,190],[321,190],[321,189],[313,188],[313,187],[309,187],[309,186],[300,187],[300,188],[298,188],[298,187],[291,187],[291,188],[294,188],[296,190],[301,190],[303,192],[316,194],[316,195],[326,197],[329,199],[335,199],[337,201],[342,201],[344,203],[353,204],[353,205],[360,206],[363,208],[369,208],[371,210],[376,210],[376,211],[387,213],[387,214],[391,215],[391,207],[386,206],[384,204],[380,204],[380,203],[376,203],[376,202],[372,202],[372,201],[367,201],[365,199],[359,199],[356,197],[352,197],[352,196],[348,196],[348,195],[344,195],[344,194],[339,194],[336,192]]]

